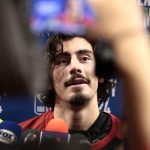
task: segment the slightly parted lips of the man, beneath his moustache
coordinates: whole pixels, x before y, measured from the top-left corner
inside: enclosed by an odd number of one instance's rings
[[[66,82],[65,86],[68,87],[68,86],[72,86],[72,85],[88,84],[88,83],[89,83],[89,81],[86,79],[76,78],[74,80]]]

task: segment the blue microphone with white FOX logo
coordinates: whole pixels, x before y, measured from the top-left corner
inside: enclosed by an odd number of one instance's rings
[[[1,150],[17,150],[22,135],[22,128],[12,121],[0,123]]]

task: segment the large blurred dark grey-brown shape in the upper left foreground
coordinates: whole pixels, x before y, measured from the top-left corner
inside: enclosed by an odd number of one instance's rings
[[[25,94],[43,88],[40,53],[29,33],[28,1],[0,1],[0,92]]]

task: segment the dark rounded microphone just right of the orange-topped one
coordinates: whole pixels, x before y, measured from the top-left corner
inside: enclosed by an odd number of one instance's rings
[[[88,139],[82,134],[72,134],[69,142],[70,150],[91,150]]]

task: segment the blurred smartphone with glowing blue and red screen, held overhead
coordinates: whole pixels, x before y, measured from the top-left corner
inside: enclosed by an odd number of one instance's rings
[[[31,0],[29,16],[33,32],[85,34],[96,22],[86,0]]]

